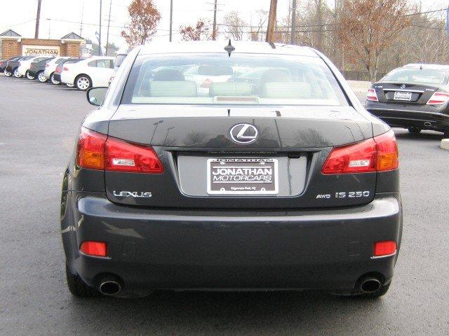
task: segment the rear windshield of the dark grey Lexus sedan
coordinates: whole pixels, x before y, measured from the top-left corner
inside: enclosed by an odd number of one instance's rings
[[[347,105],[319,57],[166,54],[138,57],[123,104]]]

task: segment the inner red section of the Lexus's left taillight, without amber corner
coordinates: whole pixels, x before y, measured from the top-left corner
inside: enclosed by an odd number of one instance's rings
[[[163,173],[163,165],[153,148],[114,138],[106,141],[105,169],[114,172]]]

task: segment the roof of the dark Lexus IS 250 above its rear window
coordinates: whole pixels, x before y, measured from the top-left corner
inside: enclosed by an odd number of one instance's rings
[[[226,52],[229,41],[187,41],[187,42],[150,42],[142,45],[140,55],[166,53],[210,53]],[[318,57],[312,48],[283,43],[267,43],[253,41],[231,41],[234,53],[297,55]]]

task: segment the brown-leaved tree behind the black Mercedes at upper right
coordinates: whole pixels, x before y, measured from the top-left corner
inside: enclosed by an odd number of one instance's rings
[[[408,3],[403,0],[344,0],[338,37],[351,62],[361,62],[375,81],[380,57],[404,28],[410,27]]]

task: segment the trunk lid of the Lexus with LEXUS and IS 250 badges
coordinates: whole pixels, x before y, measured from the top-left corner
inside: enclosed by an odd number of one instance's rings
[[[252,144],[236,144],[230,139],[229,131],[241,123],[257,128],[259,134]],[[227,109],[121,105],[109,121],[109,137],[151,145],[164,167],[163,174],[105,172],[107,196],[120,204],[189,209],[300,209],[365,204],[374,197],[376,173],[321,174],[334,146],[373,137],[370,121],[349,106]],[[215,188],[214,192],[210,181],[219,167],[226,168],[226,172],[242,167],[273,169],[275,174],[268,179],[276,180],[276,190],[267,187],[263,195],[243,195],[237,185],[223,184],[222,189]],[[243,185],[247,188],[247,183]],[[234,187],[238,193],[224,194]],[[337,193],[361,196],[337,197]]]

